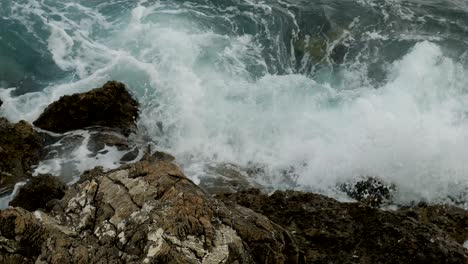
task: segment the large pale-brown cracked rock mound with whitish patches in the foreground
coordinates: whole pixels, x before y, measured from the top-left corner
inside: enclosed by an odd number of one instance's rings
[[[0,262],[299,262],[285,229],[205,194],[172,159],[88,171],[48,214],[1,211]]]

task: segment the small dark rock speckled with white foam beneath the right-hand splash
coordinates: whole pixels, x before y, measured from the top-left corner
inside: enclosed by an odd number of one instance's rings
[[[391,200],[395,186],[375,177],[367,177],[356,183],[345,183],[340,189],[351,198],[369,206],[379,207]]]

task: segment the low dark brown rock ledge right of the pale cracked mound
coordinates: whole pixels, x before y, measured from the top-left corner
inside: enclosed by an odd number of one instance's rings
[[[389,212],[312,193],[259,190],[218,196],[286,228],[306,263],[468,263],[464,210]],[[444,216],[437,216],[443,214]],[[432,216],[429,216],[432,215]],[[426,217],[426,220],[424,220]],[[446,231],[446,232],[444,232]]]

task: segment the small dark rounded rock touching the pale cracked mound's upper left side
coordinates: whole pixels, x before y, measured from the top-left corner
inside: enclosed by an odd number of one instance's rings
[[[10,202],[10,206],[22,207],[28,211],[47,208],[47,203],[54,199],[62,199],[67,185],[58,177],[40,175],[33,177],[21,187],[18,195]]]

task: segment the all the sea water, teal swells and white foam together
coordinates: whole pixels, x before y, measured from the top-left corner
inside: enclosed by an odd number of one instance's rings
[[[195,182],[234,163],[339,198],[374,176],[397,203],[468,208],[467,47],[465,0],[2,0],[0,114],[33,121],[118,80],[141,103],[138,137]],[[87,154],[36,172],[121,156]]]

